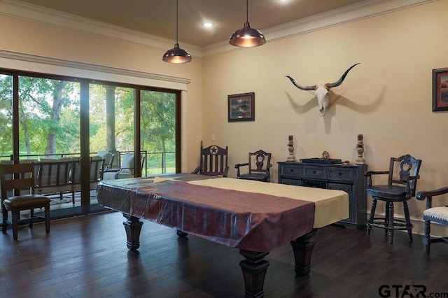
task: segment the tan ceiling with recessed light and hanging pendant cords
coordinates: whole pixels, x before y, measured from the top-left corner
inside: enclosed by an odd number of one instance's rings
[[[176,0],[21,0],[146,34],[176,40]],[[363,0],[251,0],[248,21],[263,29]],[[213,22],[205,28],[203,22]],[[179,43],[204,47],[227,40],[246,22],[244,0],[180,0]]]

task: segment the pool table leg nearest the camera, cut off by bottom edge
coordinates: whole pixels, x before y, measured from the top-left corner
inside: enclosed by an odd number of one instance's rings
[[[244,276],[244,297],[264,297],[265,292],[263,286],[265,284],[265,276],[269,262],[263,260],[263,257],[269,252],[258,253],[251,250],[239,250],[246,260],[239,262]]]

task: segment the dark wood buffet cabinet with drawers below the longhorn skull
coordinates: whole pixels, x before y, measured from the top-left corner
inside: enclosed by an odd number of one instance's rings
[[[367,223],[367,194],[364,176],[367,165],[278,162],[279,183],[344,190],[349,194],[349,218],[337,225],[361,229]]]

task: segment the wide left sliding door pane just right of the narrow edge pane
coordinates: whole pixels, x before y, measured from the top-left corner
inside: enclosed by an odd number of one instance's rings
[[[80,83],[18,76],[19,159],[36,164],[53,218],[80,212],[80,121]]]

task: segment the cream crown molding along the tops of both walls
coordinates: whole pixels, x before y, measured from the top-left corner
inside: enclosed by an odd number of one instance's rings
[[[367,17],[391,13],[396,10],[418,6],[433,1],[438,0],[365,0],[349,6],[330,10],[326,13],[263,29],[262,31],[267,42],[271,43],[290,36],[306,34],[311,31],[354,22],[356,20],[363,20]],[[106,36],[121,41],[138,43],[162,51],[165,51],[167,48],[172,48],[174,43],[176,43],[176,41],[168,38],[144,34],[136,30],[125,29],[112,24],[90,20],[85,17],[78,17],[69,13],[62,13],[17,0],[0,0],[0,14],[20,17],[25,20],[49,24],[55,27],[83,31],[88,34]],[[207,45],[202,48],[187,43],[182,43],[182,45],[183,48],[188,48],[188,52],[190,52],[191,55],[199,59],[201,57],[218,55],[232,50],[241,50],[241,48],[230,45],[227,40]]]

